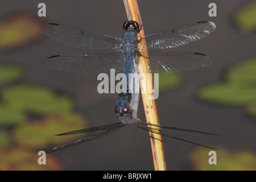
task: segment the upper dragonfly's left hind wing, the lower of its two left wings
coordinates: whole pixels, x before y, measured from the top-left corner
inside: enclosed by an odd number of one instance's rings
[[[97,76],[100,73],[109,74],[110,69],[115,69],[115,73],[123,72],[124,56],[119,51],[57,55],[48,57],[43,64],[60,71]]]

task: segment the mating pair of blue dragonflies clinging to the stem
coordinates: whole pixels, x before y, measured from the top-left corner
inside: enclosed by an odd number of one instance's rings
[[[216,29],[215,24],[212,22],[192,23],[173,30],[156,32],[143,35],[141,37],[137,36],[137,33],[141,30],[141,27],[135,21],[126,21],[123,24],[123,29],[125,30],[123,37],[118,38],[117,36],[113,35],[81,31],[77,30],[76,28],[62,26],[55,23],[46,24],[43,28],[44,34],[61,43],[65,43],[77,48],[84,48],[86,49],[86,53],[51,56],[44,60],[44,65],[46,67],[59,69],[65,72],[76,72],[90,76],[98,75],[100,73],[110,73],[110,69],[115,69],[115,73],[122,72],[125,76],[127,76],[127,78],[129,78],[129,74],[138,73],[137,61],[139,60],[139,56],[144,56],[145,52],[148,53],[152,73],[176,73],[205,67],[211,63],[210,58],[201,53],[166,52],[159,51],[158,49],[174,48],[188,44],[195,40],[199,40]],[[146,39],[146,46],[148,49],[143,46],[138,48],[138,43],[142,39]],[[130,82],[131,80],[127,79],[127,85],[130,85]],[[139,79],[133,80],[133,83],[134,88],[136,88],[139,85]],[[129,89],[130,88],[128,86],[127,90]],[[177,138],[169,134],[164,134],[159,130],[151,129],[150,126],[158,127],[159,129],[162,128],[210,134],[202,131],[143,122],[141,119],[137,118],[138,103],[139,93],[120,93],[117,106],[115,106],[115,113],[119,118],[119,122],[59,134],[72,135],[89,133],[92,131],[101,131],[101,133],[92,135],[91,137],[80,139],[76,142],[65,144],[64,146],[58,148],[53,148],[53,150],[49,152],[63,150],[64,148],[75,146],[80,143],[106,137],[107,135],[118,131],[126,125],[134,125],[140,129],[147,130],[152,133],[183,140],[199,146],[212,148],[204,146],[203,144]],[[143,127],[139,124],[147,125],[147,127]]]

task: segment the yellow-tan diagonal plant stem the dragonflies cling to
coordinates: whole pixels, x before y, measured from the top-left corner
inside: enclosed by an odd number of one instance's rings
[[[125,9],[126,9],[128,20],[134,20],[138,22],[139,25],[141,26],[140,27],[141,30],[138,32],[138,37],[142,36],[142,39],[138,43],[138,49],[140,47],[143,47],[143,49],[145,49],[147,45],[146,45],[146,40],[143,39],[144,30],[142,26],[142,20],[141,20],[141,15],[139,13],[137,0],[123,0],[123,2],[125,3]],[[141,74],[141,73],[151,73],[150,61],[146,57],[148,57],[148,55],[146,54],[144,54],[144,56],[139,56],[139,61],[138,61],[138,69],[139,69],[140,84],[141,84],[140,86],[141,86],[141,92],[142,92],[144,111],[145,111],[146,119],[148,123],[154,123],[159,125],[160,123],[159,123],[158,111],[156,108],[154,96],[150,94],[152,93],[152,88],[154,88],[154,86],[152,85],[152,77],[149,78],[145,74]],[[150,90],[150,92],[148,92],[148,90]],[[158,127],[150,126],[150,129],[159,131]],[[164,157],[162,136],[159,134],[151,133],[151,132],[149,134],[150,134],[155,171],[164,171],[166,170],[166,162]]]

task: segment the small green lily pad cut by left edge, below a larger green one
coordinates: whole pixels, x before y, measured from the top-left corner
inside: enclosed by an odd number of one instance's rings
[[[26,114],[20,110],[0,105],[0,126],[14,126],[26,121]]]

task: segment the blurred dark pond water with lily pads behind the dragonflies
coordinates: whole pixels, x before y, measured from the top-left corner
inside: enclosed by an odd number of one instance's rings
[[[98,94],[97,77],[45,68],[46,57],[85,53],[42,34],[45,23],[121,37],[123,1],[5,1],[0,6],[0,169],[154,170],[146,131],[127,126],[106,138],[67,148],[38,164],[38,152],[85,138],[55,134],[118,122],[118,94]],[[209,17],[209,3],[217,16]],[[217,165],[209,149],[163,137],[168,170],[256,169],[256,1],[139,0],[146,34],[210,20],[217,29],[202,40],[171,51],[204,53],[212,65],[160,76],[156,104],[162,125],[218,133],[171,133],[219,148]],[[145,120],[142,100],[138,117]]]

